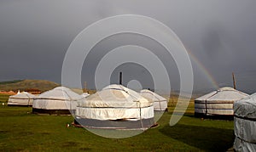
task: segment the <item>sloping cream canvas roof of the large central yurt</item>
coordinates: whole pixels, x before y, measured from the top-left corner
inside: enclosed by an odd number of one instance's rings
[[[122,85],[114,84],[88,96],[84,104],[93,107],[127,107],[150,105],[150,102],[139,93]]]

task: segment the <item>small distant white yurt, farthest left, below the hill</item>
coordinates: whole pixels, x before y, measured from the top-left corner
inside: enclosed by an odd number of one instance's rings
[[[9,106],[32,106],[33,99],[35,95],[31,93],[17,93],[15,95],[9,96],[8,105]]]

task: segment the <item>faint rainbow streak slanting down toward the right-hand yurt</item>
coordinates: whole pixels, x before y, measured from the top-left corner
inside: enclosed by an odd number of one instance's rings
[[[199,67],[199,69],[203,72],[203,74],[207,77],[208,82],[212,83],[212,86],[215,87],[216,89],[218,89],[218,82],[216,82],[214,80],[210,71],[207,70],[207,68],[201,64],[201,62],[195,57],[195,55],[193,53],[191,53],[191,51],[189,49],[186,48],[186,50],[189,53],[190,59],[192,59],[192,61],[195,62],[195,65],[197,65]]]

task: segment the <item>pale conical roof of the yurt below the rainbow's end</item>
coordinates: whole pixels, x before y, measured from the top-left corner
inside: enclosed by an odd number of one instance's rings
[[[222,101],[236,101],[242,98],[247,97],[247,93],[242,93],[232,87],[221,87],[217,91],[213,91],[212,93],[207,93],[204,96],[201,96],[195,100],[222,100]]]

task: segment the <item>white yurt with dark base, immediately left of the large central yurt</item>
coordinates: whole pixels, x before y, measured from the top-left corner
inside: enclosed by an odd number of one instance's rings
[[[70,114],[75,110],[77,101],[84,98],[67,87],[55,87],[34,99],[32,112],[38,114]]]

